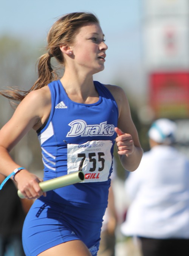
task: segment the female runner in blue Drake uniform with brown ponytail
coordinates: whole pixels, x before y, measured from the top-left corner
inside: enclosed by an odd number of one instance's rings
[[[98,19],[87,12],[66,14],[47,39],[33,87],[24,94],[1,92],[20,104],[0,130],[0,172],[11,176],[14,170],[18,189],[37,199],[23,226],[26,256],[96,256],[114,144],[129,171],[139,166],[143,151],[123,90],[93,81],[93,74],[104,70],[108,48]],[[60,80],[52,57],[64,66]],[[43,193],[42,180],[9,155],[30,129],[42,149],[43,180],[82,170],[84,182]]]

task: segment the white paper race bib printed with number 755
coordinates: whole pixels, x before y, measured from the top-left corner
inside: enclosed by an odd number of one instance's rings
[[[68,144],[68,174],[82,171],[83,182],[104,182],[108,180],[112,165],[112,141],[95,140],[84,144]]]

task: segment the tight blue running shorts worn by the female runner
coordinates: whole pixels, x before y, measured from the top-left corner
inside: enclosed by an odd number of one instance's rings
[[[105,208],[88,209],[55,204],[40,197],[31,206],[23,225],[23,248],[26,256],[37,256],[58,244],[82,240],[91,255],[99,249]]]

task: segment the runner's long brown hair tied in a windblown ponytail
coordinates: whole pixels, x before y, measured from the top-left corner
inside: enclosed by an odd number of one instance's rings
[[[0,95],[13,101],[22,101],[29,92],[40,89],[53,80],[56,80],[58,74],[53,70],[51,58],[55,57],[56,61],[64,66],[64,57],[60,51],[60,45],[70,45],[74,43],[74,37],[78,29],[88,22],[99,23],[99,20],[90,12],[73,12],[65,14],[58,19],[48,33],[46,46],[47,52],[39,57],[38,79],[34,85],[28,91],[18,90],[17,88],[2,90],[0,91]]]

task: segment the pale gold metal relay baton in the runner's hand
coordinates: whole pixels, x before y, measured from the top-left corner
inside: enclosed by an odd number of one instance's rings
[[[46,180],[44,182],[39,182],[39,186],[43,192],[47,192],[53,189],[82,182],[84,179],[84,173],[82,171],[78,171],[57,178],[52,178],[51,180]],[[18,190],[18,195],[20,198],[24,198],[24,195],[20,192],[20,190]]]

